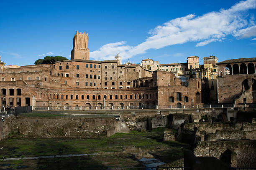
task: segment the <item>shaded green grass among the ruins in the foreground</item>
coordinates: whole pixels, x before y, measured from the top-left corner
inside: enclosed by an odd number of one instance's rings
[[[171,162],[173,160],[183,157],[183,150],[188,149],[189,145],[179,142],[162,141],[164,128],[156,128],[151,132],[139,132],[132,130],[131,133],[116,133],[111,137],[98,136],[96,138],[79,139],[79,138],[20,138],[10,137],[0,141],[0,158],[14,158],[14,157],[30,157],[30,156],[44,156],[44,155],[65,155],[65,154],[84,154],[84,153],[110,153],[99,155],[97,159],[90,160],[95,165],[137,165],[138,161],[134,154],[124,153],[124,148],[138,147],[141,150],[155,150],[151,154],[155,155],[161,160]],[[162,151],[159,151],[162,149]],[[118,156],[123,154],[121,156]],[[106,156],[107,155],[107,156]],[[93,158],[96,158],[94,156]],[[84,167],[89,160],[79,160],[78,158],[66,159],[49,159],[48,163],[43,160],[36,162],[36,160],[29,160],[31,164],[41,167],[41,169],[54,169],[49,167],[52,161],[77,162],[77,166]],[[74,160],[75,159],[75,160]],[[78,160],[76,160],[78,159]],[[82,158],[81,158],[82,159]],[[87,159],[87,158],[86,158]],[[88,158],[89,159],[89,158]],[[43,162],[42,162],[43,161]],[[90,162],[89,161],[89,162]],[[9,161],[14,164],[13,167],[25,166],[22,160],[20,162]],[[0,161],[5,164],[5,161]],[[64,164],[65,164],[64,163]],[[39,166],[40,164],[40,166]],[[88,163],[87,163],[88,164]],[[45,166],[45,167],[44,167]],[[55,166],[55,165],[52,165]],[[103,167],[104,167],[103,166]],[[34,166],[33,166],[34,167]],[[28,168],[29,169],[29,168]],[[33,168],[32,168],[33,169]],[[67,169],[67,168],[66,168]],[[78,168],[79,169],[79,168]]]

